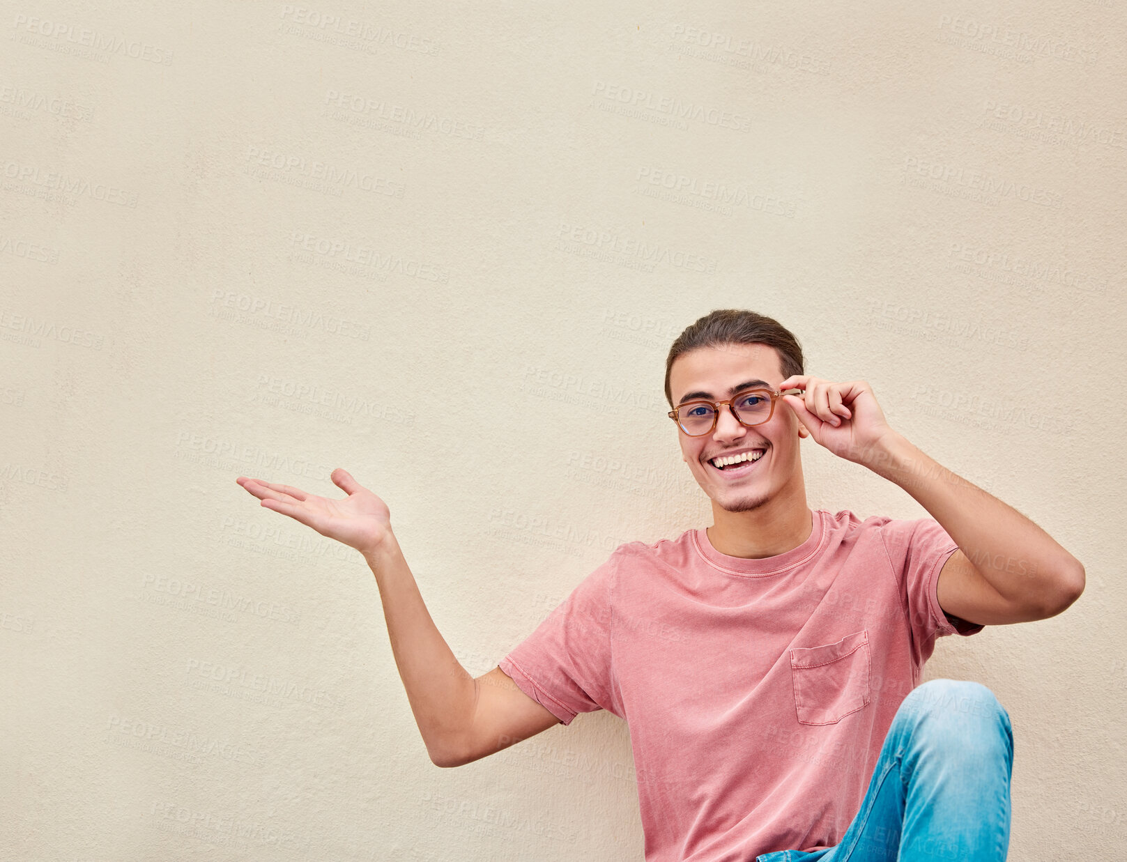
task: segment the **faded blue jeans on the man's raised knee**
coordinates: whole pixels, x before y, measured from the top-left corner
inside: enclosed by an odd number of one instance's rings
[[[888,728],[841,843],[756,862],[1004,862],[1010,846],[1010,714],[985,685],[932,679]]]

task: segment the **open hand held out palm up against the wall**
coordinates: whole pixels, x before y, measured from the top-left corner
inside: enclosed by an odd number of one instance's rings
[[[387,504],[360,485],[347,470],[337,468],[329,478],[348,496],[332,500],[289,485],[264,482],[240,476],[237,481],[258,497],[261,505],[300,521],[327,539],[335,539],[367,556],[391,534]]]

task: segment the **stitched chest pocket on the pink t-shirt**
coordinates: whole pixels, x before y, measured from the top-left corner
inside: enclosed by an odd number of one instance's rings
[[[834,725],[869,703],[869,632],[790,650],[795,709],[804,725]]]

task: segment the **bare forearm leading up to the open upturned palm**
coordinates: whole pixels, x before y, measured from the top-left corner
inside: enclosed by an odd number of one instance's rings
[[[364,559],[375,575],[391,651],[415,722],[437,763],[453,754],[472,719],[476,683],[431,619],[394,535]]]

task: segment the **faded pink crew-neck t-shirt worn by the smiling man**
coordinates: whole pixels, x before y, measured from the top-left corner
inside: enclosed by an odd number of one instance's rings
[[[749,560],[704,530],[620,545],[499,667],[562,723],[630,730],[647,862],[838,844],[947,619],[958,545],[933,518],[813,513]]]

